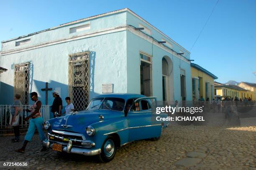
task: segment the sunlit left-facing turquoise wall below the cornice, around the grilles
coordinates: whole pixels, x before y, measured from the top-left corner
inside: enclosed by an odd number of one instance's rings
[[[5,74],[1,75],[1,81],[13,86],[13,65],[32,61],[33,86],[31,90],[39,93],[44,104],[45,92],[41,91],[41,88],[44,88],[45,82],[49,82],[49,87],[53,89],[61,87],[61,98],[63,104],[66,105],[64,98],[68,96],[68,55],[87,50],[92,51],[91,58],[94,58],[90,61],[94,73],[90,80],[90,99],[101,94],[102,84],[114,84],[115,93],[126,92],[125,31],[1,56],[1,65],[8,69]],[[0,101],[0,103],[11,104],[12,91],[10,91],[10,96],[2,100],[5,102]],[[52,101],[53,97],[49,94],[48,103],[51,104]]]

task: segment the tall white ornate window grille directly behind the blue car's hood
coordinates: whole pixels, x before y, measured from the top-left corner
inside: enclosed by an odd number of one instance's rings
[[[84,110],[89,104],[90,51],[69,55],[69,97],[74,110]]]

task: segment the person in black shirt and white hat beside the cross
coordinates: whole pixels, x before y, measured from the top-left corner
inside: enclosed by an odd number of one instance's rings
[[[54,114],[54,117],[61,116],[62,99],[59,96],[59,91],[52,92],[52,96],[54,97],[54,101],[51,105],[51,112]]]

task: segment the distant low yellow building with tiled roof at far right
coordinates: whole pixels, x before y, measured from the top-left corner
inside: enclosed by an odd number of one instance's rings
[[[253,92],[243,89],[236,85],[231,84],[222,84],[219,82],[214,82],[214,89],[215,95],[223,96],[223,97],[229,97],[230,99],[235,97],[238,97],[238,99],[244,99],[245,97],[248,98],[248,96],[252,96]],[[252,98],[254,100],[254,98]]]

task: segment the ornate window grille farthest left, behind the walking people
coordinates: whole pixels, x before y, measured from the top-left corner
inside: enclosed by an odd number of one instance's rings
[[[20,102],[23,105],[28,105],[29,86],[30,86],[30,63],[21,63],[14,65],[14,81],[13,94],[20,94]]]

